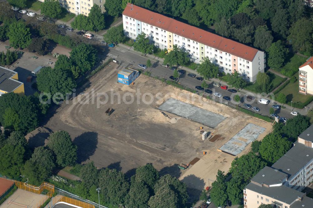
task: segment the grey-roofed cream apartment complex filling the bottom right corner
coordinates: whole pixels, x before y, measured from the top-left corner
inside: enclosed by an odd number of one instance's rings
[[[273,204],[278,208],[313,207],[301,191],[313,181],[313,125],[272,167],[264,167],[244,189],[244,207]]]

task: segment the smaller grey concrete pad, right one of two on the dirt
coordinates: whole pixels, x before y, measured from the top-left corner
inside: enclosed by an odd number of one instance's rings
[[[235,136],[226,142],[219,150],[236,156],[241,153],[244,148],[254,140],[256,140],[265,128],[249,123],[241,129]]]

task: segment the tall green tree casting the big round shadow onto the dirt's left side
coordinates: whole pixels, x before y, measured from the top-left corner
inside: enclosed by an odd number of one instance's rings
[[[69,133],[57,131],[50,134],[48,147],[56,156],[56,163],[61,167],[73,165],[77,159],[77,146],[72,143]]]

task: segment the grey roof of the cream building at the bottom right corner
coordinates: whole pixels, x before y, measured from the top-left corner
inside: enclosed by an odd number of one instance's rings
[[[246,189],[249,189],[259,194],[266,195],[277,201],[281,201],[287,204],[291,204],[293,201],[295,201],[298,198],[298,196],[301,197],[305,195],[305,193],[288,188],[287,186],[284,186],[284,185],[266,188],[264,186],[261,187],[253,183],[249,183],[246,186]]]

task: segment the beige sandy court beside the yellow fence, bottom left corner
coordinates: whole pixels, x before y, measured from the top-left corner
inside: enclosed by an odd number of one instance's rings
[[[0,208],[37,208],[47,199],[48,196],[46,195],[18,189],[0,205]]]

